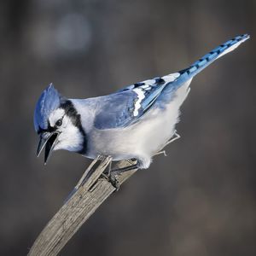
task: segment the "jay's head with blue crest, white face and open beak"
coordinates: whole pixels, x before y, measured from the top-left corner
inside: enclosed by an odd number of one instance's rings
[[[45,147],[44,164],[52,151],[66,149],[83,153],[85,132],[73,103],[61,96],[53,84],[44,90],[34,112],[35,130],[40,136],[37,155]]]

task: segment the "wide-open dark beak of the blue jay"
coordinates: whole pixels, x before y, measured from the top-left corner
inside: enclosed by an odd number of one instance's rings
[[[37,156],[42,152],[45,146],[44,152],[44,165],[46,165],[49,160],[50,155],[52,154],[53,149],[55,148],[55,144],[57,142],[57,137],[59,137],[58,132],[44,132],[40,136],[40,140],[38,143]]]

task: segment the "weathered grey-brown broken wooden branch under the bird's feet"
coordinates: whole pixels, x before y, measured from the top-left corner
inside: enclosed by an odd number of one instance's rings
[[[54,256],[60,253],[67,241],[79,230],[82,224],[92,215],[98,207],[113,193],[112,183],[102,176],[111,162],[111,157],[94,160],[73,190],[73,194],[44,227],[32,245],[30,256]],[[119,184],[124,183],[128,177],[137,171],[136,162],[123,160],[116,167],[131,166],[127,172],[113,172]],[[113,170],[114,171],[114,170]]]

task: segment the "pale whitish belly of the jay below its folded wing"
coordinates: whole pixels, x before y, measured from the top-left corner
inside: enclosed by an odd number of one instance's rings
[[[167,109],[154,109],[147,119],[126,128],[95,129],[90,134],[92,150],[89,154],[93,157],[97,154],[112,155],[113,160],[136,158],[138,155],[151,157],[174,133],[179,111],[167,112]]]

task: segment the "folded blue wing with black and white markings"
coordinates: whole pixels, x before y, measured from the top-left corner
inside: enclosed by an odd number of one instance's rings
[[[163,78],[149,79],[101,97],[101,111],[96,115],[95,127],[111,129],[136,123],[152,108],[166,84],[179,76],[179,73],[174,73]]]

